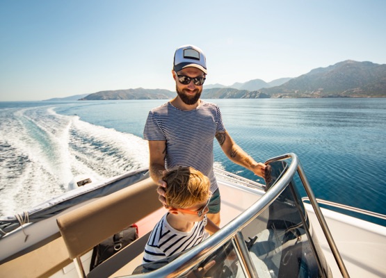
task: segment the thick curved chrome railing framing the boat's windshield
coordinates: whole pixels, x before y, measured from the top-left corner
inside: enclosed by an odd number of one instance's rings
[[[314,194],[309,187],[309,183],[305,177],[303,168],[298,161],[298,156],[296,156],[296,154],[285,154],[283,156],[271,158],[270,160],[266,161],[266,163],[271,163],[273,161],[283,161],[288,158],[291,158],[292,161],[285,172],[280,175],[280,179],[275,181],[274,185],[271,186],[271,188],[269,188],[266,193],[262,195],[262,197],[257,202],[255,202],[255,204],[252,204],[252,206],[247,208],[246,211],[243,211],[243,213],[232,220],[232,222],[226,224],[225,227],[221,228],[218,232],[216,232],[216,234],[210,236],[207,240],[204,240],[202,243],[196,245],[191,250],[188,250],[186,253],[182,254],[182,256],[178,256],[177,259],[167,263],[162,268],[152,272],[142,273],[140,275],[131,275],[129,277],[179,277],[186,275],[186,272],[194,268],[200,262],[204,261],[204,259],[207,259],[207,257],[216,252],[219,247],[225,245],[225,243],[228,241],[232,242],[244,275],[246,275],[246,277],[258,277],[257,270],[255,265],[252,263],[250,253],[248,252],[246,242],[243,238],[243,235],[241,234],[241,230],[250,224],[253,220],[255,220],[257,216],[262,214],[266,208],[268,208],[268,206],[270,206],[275,201],[275,199],[278,198],[283,190],[289,186],[289,183],[292,181],[296,172],[298,172],[309,200],[314,207],[314,211],[321,224],[325,237],[328,240],[328,244],[330,245],[332,254],[335,257],[335,261],[337,261],[337,265],[339,266],[341,274],[343,277],[349,277],[344,262],[341,259],[328,226],[323,218],[321,210],[316,202]]]

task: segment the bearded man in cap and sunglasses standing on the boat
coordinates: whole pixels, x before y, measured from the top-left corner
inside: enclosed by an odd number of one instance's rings
[[[211,181],[213,193],[208,218],[220,224],[220,193],[214,175],[214,138],[221,149],[236,164],[264,177],[266,165],[248,156],[227,133],[220,109],[200,99],[207,75],[204,53],[193,45],[184,45],[175,51],[172,76],[177,97],[150,111],[143,132],[149,141],[150,176],[166,187],[161,180],[164,170],[190,166],[205,174]],[[160,201],[166,204],[163,190]]]

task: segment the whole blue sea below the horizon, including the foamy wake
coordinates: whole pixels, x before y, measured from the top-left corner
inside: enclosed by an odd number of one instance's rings
[[[147,167],[143,126],[166,101],[0,102],[0,218],[71,190],[79,178]],[[386,215],[386,98],[204,101],[218,104],[227,131],[256,161],[294,153],[317,198]],[[214,145],[216,167],[264,183]]]

